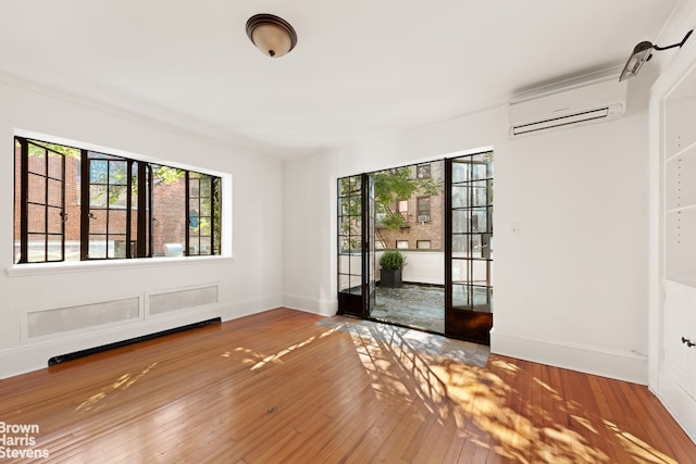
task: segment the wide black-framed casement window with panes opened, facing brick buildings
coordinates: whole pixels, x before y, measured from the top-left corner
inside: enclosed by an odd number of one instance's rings
[[[220,254],[221,178],[15,137],[14,263]]]

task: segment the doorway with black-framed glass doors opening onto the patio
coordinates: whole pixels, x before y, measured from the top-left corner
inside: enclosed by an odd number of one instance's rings
[[[492,217],[493,152],[339,178],[338,314],[489,344]]]

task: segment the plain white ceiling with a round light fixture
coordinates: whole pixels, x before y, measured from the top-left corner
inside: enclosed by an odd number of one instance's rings
[[[293,158],[623,65],[676,3],[2,0],[0,71]],[[293,24],[295,50],[261,54],[257,13]]]

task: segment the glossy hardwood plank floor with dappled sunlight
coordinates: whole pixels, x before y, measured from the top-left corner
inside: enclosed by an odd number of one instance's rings
[[[474,367],[319,319],[278,309],[0,380],[5,451],[71,463],[696,459],[643,386],[498,355]]]

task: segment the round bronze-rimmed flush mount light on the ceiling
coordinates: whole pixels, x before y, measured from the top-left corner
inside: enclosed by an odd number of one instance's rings
[[[263,54],[281,58],[295,48],[297,34],[290,24],[272,14],[256,14],[247,21],[247,36]]]

